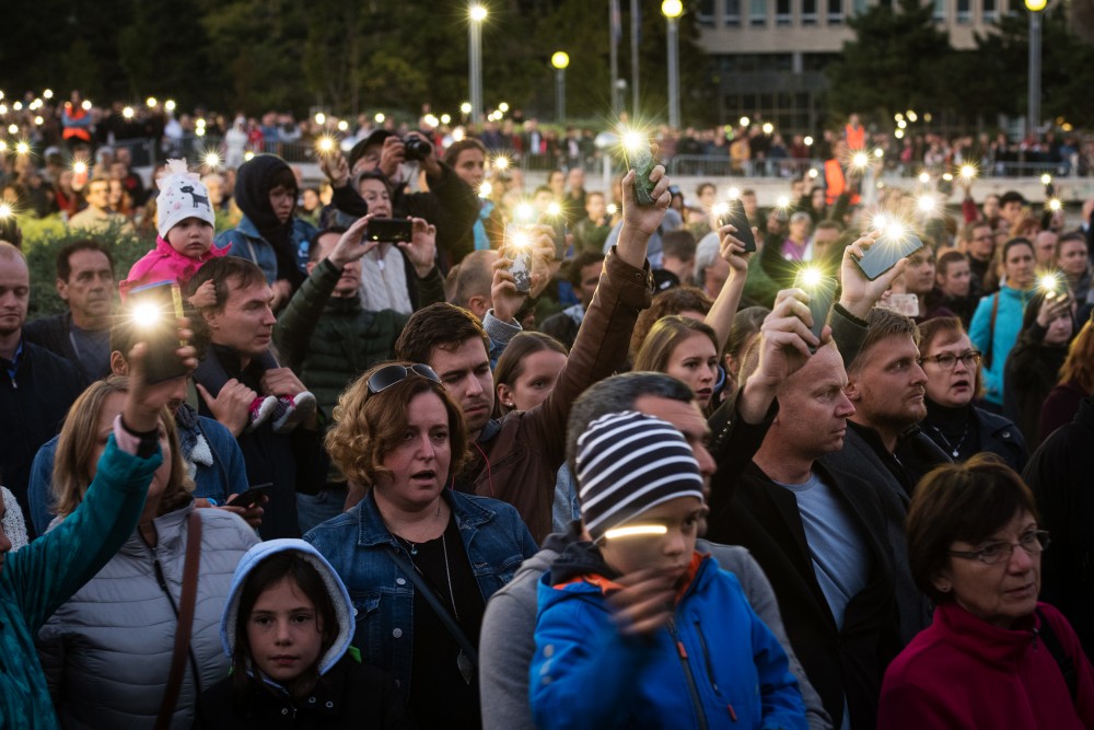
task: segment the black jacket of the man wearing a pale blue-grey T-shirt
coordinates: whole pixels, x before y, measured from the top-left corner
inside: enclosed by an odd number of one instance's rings
[[[748,548],[764,568],[790,644],[834,725],[842,721],[846,696],[853,730],[873,728],[882,676],[900,649],[885,519],[872,485],[819,463],[814,468],[843,500],[869,551],[869,582],[847,605],[842,629],[814,572],[794,494],[755,463],[740,478],[721,468],[714,474],[707,538]]]

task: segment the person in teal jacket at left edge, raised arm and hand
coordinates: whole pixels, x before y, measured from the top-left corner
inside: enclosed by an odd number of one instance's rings
[[[177,382],[144,383],[143,350],[130,354],[133,385],[79,509],[16,553],[0,531],[0,728],[58,727],[34,636],[117,553],[137,526],[152,479],[171,471],[159,424]],[[197,366],[193,348],[178,355]]]

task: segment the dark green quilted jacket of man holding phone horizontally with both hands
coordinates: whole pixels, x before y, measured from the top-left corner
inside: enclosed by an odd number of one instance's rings
[[[327,259],[312,269],[274,327],[281,364],[291,368],[329,416],[354,378],[392,359],[409,315],[368,312],[357,297],[331,297],[341,270]],[[419,306],[444,301],[444,280],[434,267],[418,279]]]

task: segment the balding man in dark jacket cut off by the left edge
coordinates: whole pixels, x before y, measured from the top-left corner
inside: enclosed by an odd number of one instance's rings
[[[0,479],[30,513],[26,484],[38,447],[57,434],[80,395],[83,374],[68,360],[23,337],[31,274],[15,246],[0,241]],[[31,536],[33,529],[27,528]]]

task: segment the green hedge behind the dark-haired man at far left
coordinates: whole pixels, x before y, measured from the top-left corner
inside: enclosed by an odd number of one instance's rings
[[[114,274],[118,281],[126,277],[129,267],[155,246],[155,236],[141,237],[123,233],[112,227],[103,233],[90,234],[73,231],[59,216],[48,218],[20,217],[23,230],[23,253],[31,269],[31,304],[27,320],[37,320],[66,311],[65,302],[57,296],[57,252],[73,241],[94,239],[104,243],[114,256]]]

